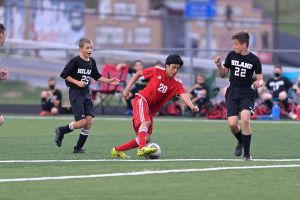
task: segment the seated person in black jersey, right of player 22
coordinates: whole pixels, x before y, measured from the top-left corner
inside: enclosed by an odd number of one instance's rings
[[[259,93],[268,109],[272,109],[273,101],[278,101],[286,111],[287,116],[296,119],[296,114],[290,110],[288,103],[288,92],[289,89],[294,87],[294,84],[289,79],[281,77],[281,74],[282,67],[276,65],[274,67],[274,77],[266,82],[265,87]]]

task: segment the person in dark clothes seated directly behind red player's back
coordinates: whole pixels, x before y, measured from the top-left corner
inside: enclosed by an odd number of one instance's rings
[[[133,65],[129,68],[129,74],[133,76],[137,71],[140,71],[144,68],[144,63],[141,60],[135,60],[133,62]],[[131,88],[129,96],[125,98],[127,103],[127,111],[125,112],[126,115],[132,114],[132,105],[131,101],[135,97],[135,93],[139,92],[140,90],[144,89],[146,87],[147,81],[144,79],[144,77],[141,77]]]

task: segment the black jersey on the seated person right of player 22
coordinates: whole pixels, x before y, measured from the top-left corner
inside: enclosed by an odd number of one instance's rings
[[[273,97],[278,97],[279,93],[282,91],[288,92],[292,86],[293,83],[285,77],[280,77],[277,80],[270,78],[266,83],[266,87],[272,91]]]

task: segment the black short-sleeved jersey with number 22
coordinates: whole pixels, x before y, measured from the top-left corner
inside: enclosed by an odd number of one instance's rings
[[[253,73],[262,73],[259,58],[251,52],[247,55],[229,52],[224,66],[230,70],[229,81],[233,87],[251,87]]]

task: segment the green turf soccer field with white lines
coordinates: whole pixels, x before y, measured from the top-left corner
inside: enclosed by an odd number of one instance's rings
[[[0,128],[0,199],[299,199],[300,123],[252,122],[254,161],[233,156],[224,121],[157,118],[157,161],[111,159],[134,136],[130,118],[97,117],[86,148],[78,131],[54,145],[53,129],[71,117],[6,116]]]

